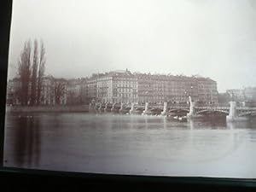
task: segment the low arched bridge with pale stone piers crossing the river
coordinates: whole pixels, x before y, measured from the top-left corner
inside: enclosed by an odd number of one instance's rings
[[[230,102],[230,107],[198,107],[189,97],[189,104],[171,105],[167,102],[164,105],[146,102],[145,105],[136,103],[90,103],[90,110],[97,112],[116,112],[130,114],[160,114],[163,116],[183,115],[189,119],[197,118],[209,113],[220,113],[226,116],[228,121],[244,120],[256,116],[256,108],[237,107],[236,102]]]

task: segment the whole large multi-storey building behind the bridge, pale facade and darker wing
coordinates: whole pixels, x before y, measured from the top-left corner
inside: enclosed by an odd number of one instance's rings
[[[218,102],[217,83],[202,77],[152,75],[128,70],[93,74],[87,96],[97,102]]]

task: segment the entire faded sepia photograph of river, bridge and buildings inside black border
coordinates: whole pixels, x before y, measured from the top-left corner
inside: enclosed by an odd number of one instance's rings
[[[256,177],[256,1],[14,0],[4,166]]]

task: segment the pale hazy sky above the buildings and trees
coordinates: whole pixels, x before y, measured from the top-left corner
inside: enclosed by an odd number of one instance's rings
[[[128,68],[256,86],[254,0],[15,0],[12,16],[9,78],[24,42],[42,38],[55,77]]]

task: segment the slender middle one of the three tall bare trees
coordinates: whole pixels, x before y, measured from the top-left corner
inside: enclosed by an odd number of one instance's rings
[[[31,78],[31,105],[37,102],[37,79],[38,79],[38,40],[34,41],[34,53],[32,63],[32,78]]]

